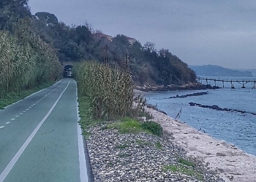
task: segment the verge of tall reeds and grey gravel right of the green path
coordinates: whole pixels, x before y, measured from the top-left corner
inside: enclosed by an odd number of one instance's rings
[[[150,121],[127,69],[84,62],[74,71],[94,181],[222,181]]]

